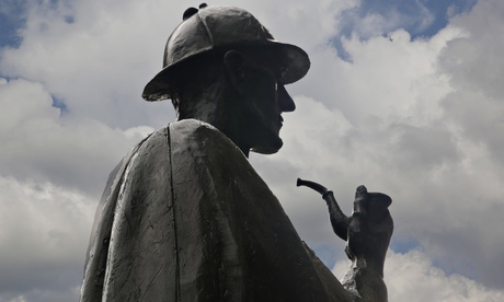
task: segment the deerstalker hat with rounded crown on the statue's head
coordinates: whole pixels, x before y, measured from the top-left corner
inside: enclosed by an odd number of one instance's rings
[[[184,21],[173,31],[164,48],[163,69],[146,85],[146,101],[171,98],[173,69],[185,60],[215,49],[260,46],[279,50],[284,61],[282,83],[298,81],[308,72],[310,59],[298,46],[275,40],[270,32],[248,11],[234,7],[190,9]],[[187,10],[186,13],[190,11]]]

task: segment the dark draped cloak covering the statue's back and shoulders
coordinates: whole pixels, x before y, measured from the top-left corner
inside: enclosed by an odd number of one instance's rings
[[[229,138],[169,125],[111,173],[81,301],[351,301]]]

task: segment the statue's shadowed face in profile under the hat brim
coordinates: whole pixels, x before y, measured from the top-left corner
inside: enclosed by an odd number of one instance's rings
[[[257,153],[276,153],[283,146],[279,131],[282,113],[293,112],[296,106],[280,83],[279,68],[261,63],[247,67],[244,93],[245,123],[250,129],[251,150]]]

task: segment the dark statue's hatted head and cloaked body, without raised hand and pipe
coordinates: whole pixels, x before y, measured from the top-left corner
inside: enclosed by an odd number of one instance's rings
[[[309,66],[244,10],[184,13],[142,94],[177,120],[111,173],[81,301],[351,301],[247,159],[280,149],[284,85]]]

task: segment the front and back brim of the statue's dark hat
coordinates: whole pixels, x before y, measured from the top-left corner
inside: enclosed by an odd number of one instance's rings
[[[276,40],[268,40],[267,44],[254,45],[254,47],[274,48],[279,50],[279,56],[284,62],[286,70],[284,71],[283,78],[280,79],[283,84],[290,84],[302,79],[310,69],[310,59],[308,54],[300,47],[291,44],[279,43]],[[243,46],[242,46],[243,47]],[[229,47],[228,49],[240,48],[240,46]],[[211,51],[205,50],[203,53]],[[199,54],[196,54],[197,56]],[[194,57],[194,56],[193,56]],[[170,91],[173,84],[173,71],[176,66],[180,66],[185,60],[177,61],[163,68],[156,77],[147,83],[141,97],[149,102],[158,102],[171,98]]]

